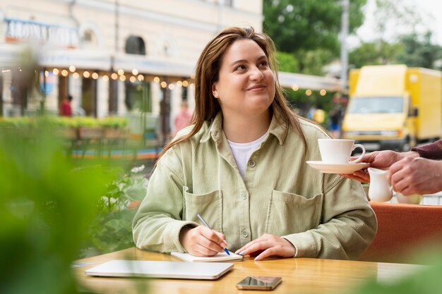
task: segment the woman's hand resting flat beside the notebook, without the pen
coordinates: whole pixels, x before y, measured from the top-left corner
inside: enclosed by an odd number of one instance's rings
[[[261,260],[265,257],[277,255],[280,257],[294,257],[296,249],[285,238],[277,237],[272,234],[264,234],[260,238],[255,239],[243,247],[239,248],[235,253],[241,255],[251,255],[253,252],[262,251],[255,260]]]

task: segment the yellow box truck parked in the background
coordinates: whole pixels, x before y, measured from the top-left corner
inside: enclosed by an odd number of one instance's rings
[[[367,150],[408,151],[442,133],[442,73],[405,65],[350,71],[343,139]]]

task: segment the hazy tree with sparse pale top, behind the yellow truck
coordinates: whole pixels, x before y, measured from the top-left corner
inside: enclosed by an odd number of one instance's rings
[[[426,27],[428,18],[409,0],[398,4],[393,0],[376,0],[374,41],[362,44],[350,52],[350,65],[403,63],[407,66],[438,68],[442,48],[431,43]],[[392,27],[398,28],[392,30]]]

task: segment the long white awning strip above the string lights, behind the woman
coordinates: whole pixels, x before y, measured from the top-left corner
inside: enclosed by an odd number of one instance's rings
[[[17,66],[22,46],[18,44],[0,44],[0,67]],[[134,69],[141,74],[160,75],[176,78],[190,78],[195,71],[194,63],[153,59],[149,56],[135,54],[117,54],[112,56],[109,51],[84,49],[50,49],[42,51],[39,64],[47,68],[69,68],[75,66],[81,70],[118,71],[132,73]],[[326,90],[338,92],[342,89],[340,80],[336,78],[303,75],[300,73],[278,74],[282,87],[299,87],[310,90]]]

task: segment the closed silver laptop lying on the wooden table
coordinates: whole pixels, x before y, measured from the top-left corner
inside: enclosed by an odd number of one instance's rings
[[[233,266],[234,264],[227,262],[162,262],[114,259],[85,270],[85,274],[88,276],[216,280],[232,269]]]

